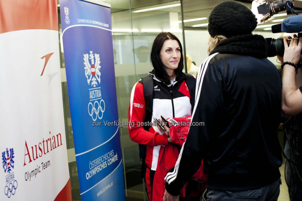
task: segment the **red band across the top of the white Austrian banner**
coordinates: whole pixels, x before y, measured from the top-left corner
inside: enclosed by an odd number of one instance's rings
[[[0,0],[0,33],[26,29],[58,31],[56,0]]]

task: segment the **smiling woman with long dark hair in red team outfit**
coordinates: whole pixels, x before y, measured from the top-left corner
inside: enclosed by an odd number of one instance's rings
[[[151,109],[152,112],[151,119],[153,117],[160,118],[161,115],[165,118],[190,116],[195,79],[193,76],[182,72],[182,45],[172,33],[163,32],[156,36],[151,51],[151,62],[154,68],[153,71],[133,86],[128,118],[129,122],[134,122],[135,126],[128,127],[128,129],[131,140],[146,145],[146,158],[143,161],[146,163],[146,190],[149,200],[154,201],[162,200],[165,189],[164,176],[175,165],[180,146],[171,143],[168,129],[164,131],[155,124],[151,127],[142,127],[138,124],[146,122],[148,109]],[[186,83],[189,76],[191,76],[194,83],[190,90]],[[151,86],[147,86],[144,81],[148,77],[153,83]],[[152,87],[152,105],[145,102],[145,87]],[[184,194],[183,187],[182,196]]]

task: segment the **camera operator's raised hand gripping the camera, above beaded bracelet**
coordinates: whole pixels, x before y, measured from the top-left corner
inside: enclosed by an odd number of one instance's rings
[[[293,38],[288,46],[286,39],[284,41],[284,56],[283,61],[290,61],[294,64],[299,64],[300,56],[301,56],[301,49],[302,49],[302,37],[299,39]]]

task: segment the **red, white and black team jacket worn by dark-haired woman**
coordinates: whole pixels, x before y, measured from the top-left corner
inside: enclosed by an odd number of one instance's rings
[[[190,93],[184,78],[185,76],[181,76],[179,80],[174,80],[172,85],[167,86],[154,75],[152,119],[153,117],[160,118],[160,115],[165,118],[191,115]],[[128,128],[131,140],[147,145],[146,165],[155,171],[159,160],[159,150],[169,144],[167,136],[163,135],[156,125],[150,127],[149,132],[140,126],[145,118],[145,100],[141,80],[133,86],[128,118],[130,123],[134,122],[134,127]]]

